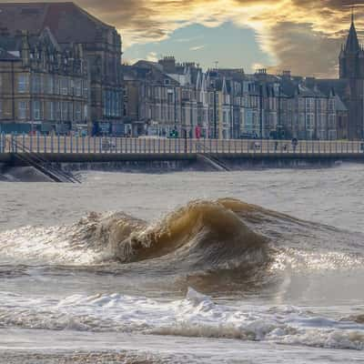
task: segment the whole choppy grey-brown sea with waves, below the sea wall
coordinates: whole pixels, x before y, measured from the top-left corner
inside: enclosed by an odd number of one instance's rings
[[[0,182],[1,363],[364,363],[364,165]]]

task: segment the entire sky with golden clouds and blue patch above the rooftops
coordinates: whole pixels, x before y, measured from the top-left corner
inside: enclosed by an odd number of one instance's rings
[[[124,62],[176,56],[204,68],[334,77],[349,0],[75,0],[123,39]],[[364,0],[356,1],[363,4]],[[356,10],[359,36],[364,7]]]

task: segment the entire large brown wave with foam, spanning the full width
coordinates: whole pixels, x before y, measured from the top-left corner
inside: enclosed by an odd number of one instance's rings
[[[0,261],[118,264],[178,270],[195,278],[208,273],[213,281],[287,267],[360,265],[363,241],[362,235],[225,198],[191,202],[154,223],[125,213],[90,213],[72,226],[7,231],[0,234]]]

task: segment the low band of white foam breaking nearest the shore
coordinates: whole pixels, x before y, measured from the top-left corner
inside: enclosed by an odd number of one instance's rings
[[[0,327],[122,331],[243,339],[330,349],[364,349],[364,325],[294,307],[217,305],[192,288],[173,302],[120,294],[63,299],[1,293]]]

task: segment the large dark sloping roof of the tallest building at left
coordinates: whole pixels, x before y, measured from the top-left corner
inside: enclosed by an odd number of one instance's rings
[[[17,30],[37,35],[49,27],[58,43],[92,43],[98,29],[115,29],[70,2],[1,3],[0,26],[13,35]]]

